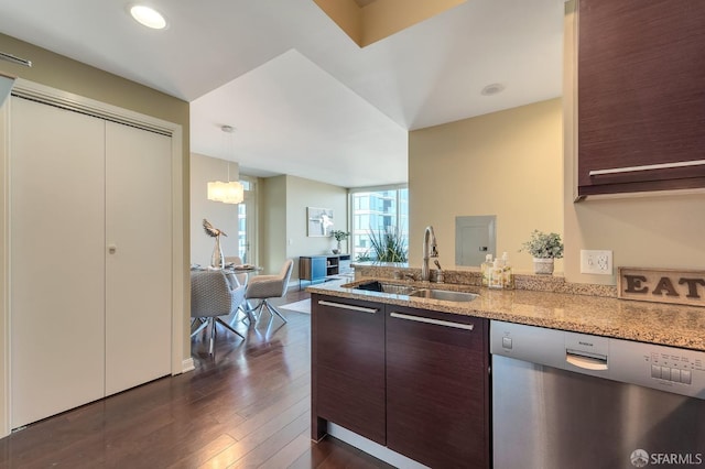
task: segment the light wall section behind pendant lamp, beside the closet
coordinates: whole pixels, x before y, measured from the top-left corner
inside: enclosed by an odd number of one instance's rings
[[[220,237],[225,255],[238,255],[238,205],[208,200],[210,181],[238,181],[239,165],[226,160],[198,153],[191,154],[191,262],[209,265],[215,247],[214,238],[206,236],[203,219],[228,236]]]

